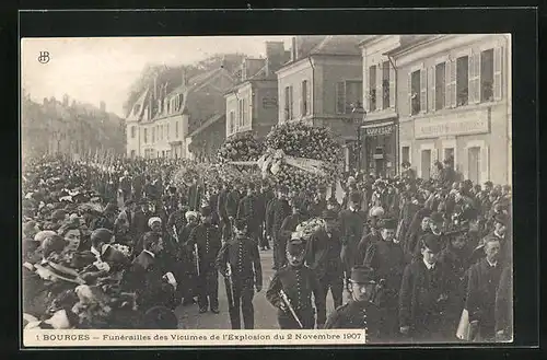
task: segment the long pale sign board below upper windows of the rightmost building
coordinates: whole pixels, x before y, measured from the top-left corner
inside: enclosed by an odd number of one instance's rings
[[[488,132],[487,111],[461,113],[445,117],[415,120],[415,138],[439,138]]]

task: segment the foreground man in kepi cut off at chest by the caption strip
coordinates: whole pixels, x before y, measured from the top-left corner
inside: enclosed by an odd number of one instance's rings
[[[379,340],[380,309],[374,303],[376,277],[374,270],[356,266],[351,270],[351,300],[336,307],[325,328],[364,328],[366,342]]]

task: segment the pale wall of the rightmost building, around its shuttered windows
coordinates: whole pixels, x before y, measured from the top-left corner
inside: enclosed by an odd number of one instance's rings
[[[470,103],[464,106],[449,107],[441,111],[434,111],[429,106],[429,102],[433,100],[432,90],[430,86],[430,81],[428,78],[428,89],[427,89],[427,106],[426,109],[420,112],[420,114],[411,116],[410,113],[410,98],[409,98],[409,74],[417,69],[431,69],[437,63],[445,61],[446,59],[455,59],[461,55],[475,54],[481,50],[502,46],[504,53],[502,54],[502,72],[501,72],[501,98],[497,98],[491,102],[482,103]],[[508,81],[508,60],[510,49],[509,43],[503,35],[481,35],[477,36],[449,36],[444,42],[438,44],[431,44],[429,48],[421,49],[422,56],[418,58],[415,56],[412,61],[407,61],[406,57],[400,57],[396,59],[400,66],[398,66],[398,79],[397,84],[397,106],[399,109],[399,139],[400,149],[406,146],[410,146],[410,156],[412,167],[418,171],[418,175],[421,173],[421,154],[420,149],[426,147],[437,149],[439,160],[443,160],[443,147],[455,146],[455,166],[456,170],[461,171],[464,177],[467,176],[468,169],[468,147],[479,146],[481,148],[480,153],[480,182],[484,183],[487,179],[492,181],[496,184],[507,184],[510,183],[511,174],[511,106],[510,100],[508,100],[508,90],[510,83]],[[427,77],[430,77],[428,71]],[[432,79],[432,78],[431,78]],[[422,106],[423,109],[423,106]],[[452,131],[453,133],[446,135],[445,132],[439,132],[430,139],[416,139],[419,135],[415,133],[415,126],[418,123],[429,119],[431,125],[443,126],[449,128],[454,128],[457,124],[465,121],[472,128],[474,120],[487,118],[487,125],[481,125],[477,127],[478,133],[466,133],[464,128],[463,132]],[[470,121],[470,123],[469,123]],[[480,120],[485,121],[485,120]],[[437,124],[437,125],[435,125]],[[477,123],[478,124],[478,123]],[[485,128],[485,126],[487,126]],[[467,129],[469,129],[467,127]],[[399,158],[400,159],[400,158]],[[434,162],[434,159],[432,160]]]

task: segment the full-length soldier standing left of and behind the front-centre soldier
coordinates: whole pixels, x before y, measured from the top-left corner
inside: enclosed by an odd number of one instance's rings
[[[219,313],[219,274],[216,267],[217,255],[222,246],[221,233],[212,224],[212,211],[209,207],[201,208],[203,221],[190,233],[187,247],[198,245],[198,304],[199,312],[205,313],[210,306],[212,313]]]

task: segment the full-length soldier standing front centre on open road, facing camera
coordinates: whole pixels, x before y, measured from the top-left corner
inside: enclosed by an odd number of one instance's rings
[[[224,276],[229,299],[230,321],[233,329],[241,328],[240,306],[246,329],[255,327],[253,297],[263,289],[263,269],[258,245],[246,235],[244,219],[235,221],[235,236],[222,245],[217,268]],[[231,277],[231,281],[229,278]],[[233,286],[233,287],[232,287]]]

